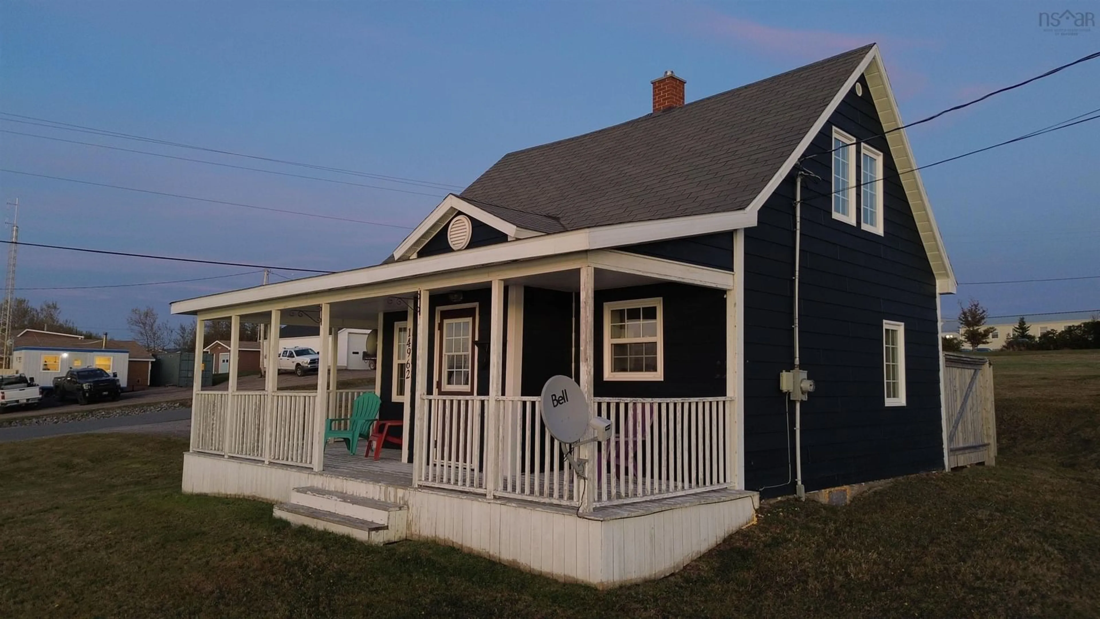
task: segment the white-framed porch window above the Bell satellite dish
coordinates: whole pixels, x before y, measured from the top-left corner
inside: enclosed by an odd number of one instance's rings
[[[660,298],[604,304],[604,380],[664,380]]]

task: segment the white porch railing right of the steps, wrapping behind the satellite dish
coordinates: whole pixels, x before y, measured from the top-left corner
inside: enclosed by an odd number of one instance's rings
[[[498,398],[491,408],[487,397],[428,395],[425,404],[416,426],[421,485],[578,506],[587,484],[593,504],[607,506],[733,482],[732,398],[596,398],[594,412],[612,420],[613,436],[596,445],[586,482],[546,431],[538,398]]]

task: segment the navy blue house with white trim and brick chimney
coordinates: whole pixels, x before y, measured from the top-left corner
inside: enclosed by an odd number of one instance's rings
[[[529,415],[554,374],[616,424],[595,504],[944,469],[956,282],[878,47],[692,102],[684,85],[667,72],[651,112],[506,154],[382,264],[173,311],[377,329],[416,484],[584,506],[515,482],[560,469]]]

